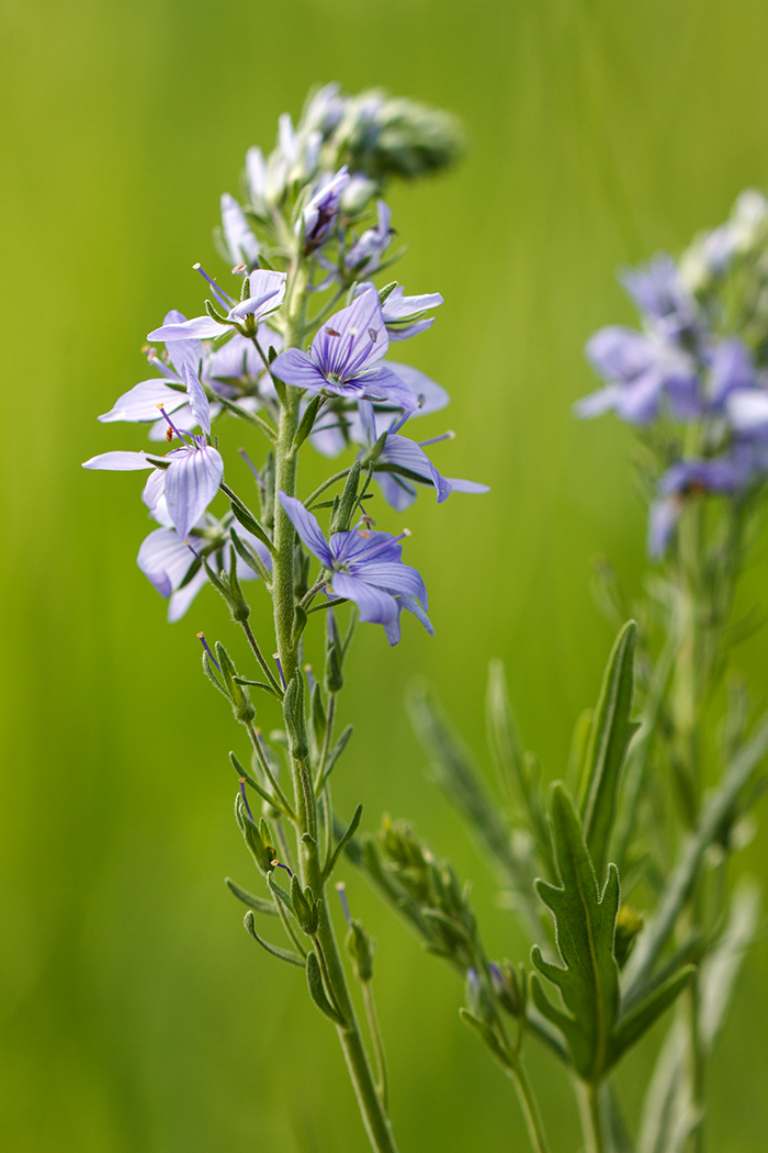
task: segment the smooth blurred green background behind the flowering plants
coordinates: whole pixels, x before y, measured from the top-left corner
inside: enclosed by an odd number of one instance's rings
[[[768,181],[762,0],[2,0],[0,293],[2,809],[0,1145],[9,1153],[352,1153],[365,1138],[333,1030],[263,955],[222,884],[251,866],[231,819],[242,740],[200,676],[227,635],[207,590],[169,627],[135,567],[139,447],[96,423],[144,374],[144,334],[195,315],[219,194],[306,89],[381,84],[451,108],[462,168],[398,187],[411,292],[443,293],[408,359],[453,393],[453,475],[493,485],[409,512],[436,636],[360,630],[335,798],[410,815],[473,879],[495,955],[522,949],[486,862],[425,779],[403,708],[432,679],[482,749],[485,668],[505,660],[550,777],[598,691],[610,630],[588,591],[609,555],[638,589],[644,523],[613,420],[578,424],[585,338],[630,321],[615,269],[679,249]],[[192,310],[190,312],[190,310]],[[431,419],[434,431],[444,416]],[[235,444],[241,431],[228,430]],[[446,469],[443,469],[446,470]],[[309,480],[309,478],[307,478]],[[389,523],[388,527],[400,527]],[[763,550],[765,551],[765,550]],[[766,562],[750,574],[765,598]],[[256,612],[266,625],[266,608]],[[740,650],[766,698],[766,633]],[[263,721],[271,718],[265,709]],[[753,846],[753,871],[768,856]],[[524,1148],[511,1086],[458,1022],[454,975],[362,877],[403,1153]],[[493,917],[492,917],[493,914]],[[768,949],[750,956],[710,1072],[712,1148],[765,1147]],[[659,1033],[638,1057],[647,1069]],[[531,1050],[555,1151],[578,1145],[560,1073]],[[632,1114],[638,1077],[622,1077]]]

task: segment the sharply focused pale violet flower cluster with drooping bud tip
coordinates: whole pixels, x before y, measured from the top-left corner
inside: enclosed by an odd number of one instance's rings
[[[410,138],[408,161],[396,125]],[[431,630],[424,585],[402,563],[402,537],[374,532],[366,514],[352,527],[351,510],[341,530],[332,518],[326,543],[314,515],[294,493],[275,493],[275,451],[290,391],[298,397],[299,443],[307,440],[325,457],[351,449],[355,467],[375,478],[396,511],[413,502],[418,487],[433,488],[439,503],[451,491],[487,491],[442,476],[425,452],[453,434],[421,443],[402,435],[406,421],[436,412],[449,398],[425,374],[390,361],[389,342],[429,329],[442,296],[406,295],[396,282],[378,288],[371,279],[388,263],[394,235],[389,206],[374,202],[387,176],[418,174],[417,156],[423,169],[438,168],[453,157],[455,144],[442,113],[382,93],[347,97],[327,85],[310,99],[296,127],[281,116],[277,144],[267,158],[259,149],[249,151],[246,203],[225,194],[218,233],[235,265],[237,291],[230,295],[196,265],[212,297],[205,310],[191,319],[177,310],[166,315],[147,336],[157,375],[99,417],[146,423],[152,442],[177,440],[177,446],[166,455],[101,453],[84,466],[150,470],[144,502],[160,527],[142,544],[138,565],[169,600],[169,619],[177,620],[214,579],[212,563],[219,570],[234,566],[238,578],[268,582],[279,496],[299,540],[322,566],[320,590],[356,602],[359,618],[383,625],[391,643],[400,636],[403,608]],[[158,344],[165,347],[158,351]],[[269,442],[264,467],[253,467],[260,520],[223,483],[225,461],[212,429],[226,415],[259,429]],[[215,517],[211,505],[219,493],[229,508]],[[365,496],[355,505],[360,512]]]

